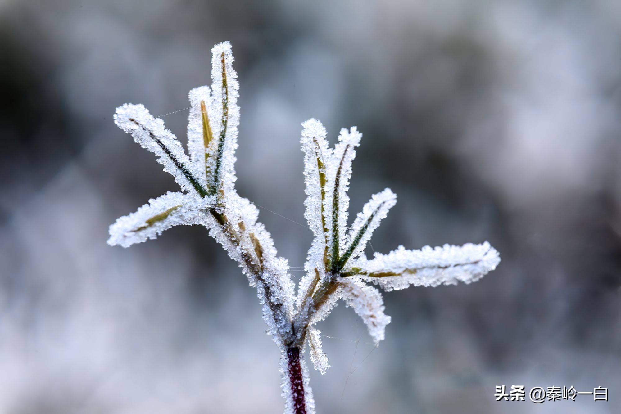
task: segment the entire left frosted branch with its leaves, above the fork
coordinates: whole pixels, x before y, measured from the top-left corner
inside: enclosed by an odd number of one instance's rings
[[[163,121],[153,118],[144,106],[117,108],[116,124],[158,155],[165,171],[188,194],[170,192],[119,218],[110,227],[108,243],[129,246],[155,238],[173,225],[206,226],[256,287],[268,333],[282,346],[292,341],[294,284],[287,261],[277,256],[270,233],[257,222],[255,205],[234,188],[239,84],[229,42],[215,45],[212,64],[213,93],[207,86],[189,92],[190,158]]]

